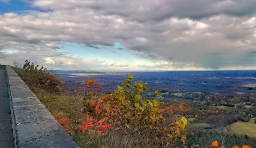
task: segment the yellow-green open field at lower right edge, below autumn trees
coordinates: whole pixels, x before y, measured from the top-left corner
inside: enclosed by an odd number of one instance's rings
[[[237,121],[229,126],[231,126],[235,134],[244,134],[256,137],[256,124],[254,123],[254,119],[251,119],[250,122]]]

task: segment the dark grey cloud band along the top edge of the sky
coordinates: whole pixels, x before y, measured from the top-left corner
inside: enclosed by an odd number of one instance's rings
[[[44,2],[45,1],[45,2]],[[106,15],[118,15],[138,22],[163,21],[171,17],[202,19],[215,15],[254,15],[255,0],[35,0],[43,9],[88,7]],[[63,1],[63,0],[61,0]],[[55,5],[56,4],[56,5]]]

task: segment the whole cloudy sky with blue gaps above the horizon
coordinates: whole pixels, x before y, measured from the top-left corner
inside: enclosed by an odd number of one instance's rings
[[[0,64],[256,70],[256,0],[0,0]]]

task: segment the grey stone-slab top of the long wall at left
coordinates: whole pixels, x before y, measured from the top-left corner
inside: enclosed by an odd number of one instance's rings
[[[16,148],[79,148],[10,66],[6,66]]]

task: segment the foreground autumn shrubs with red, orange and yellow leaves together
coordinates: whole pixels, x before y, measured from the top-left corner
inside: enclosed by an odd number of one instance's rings
[[[81,113],[88,112],[84,114],[84,120],[62,119],[59,123],[68,130],[71,128],[66,124],[74,121],[74,133],[89,132],[91,140],[85,147],[90,148],[181,147],[179,141],[186,144],[186,137],[181,134],[187,124],[186,118],[175,120],[168,128],[160,127],[166,123],[159,114],[159,101],[142,100],[141,94],[148,84],[139,81],[132,86],[132,80],[132,75],[128,75],[123,87],[117,86],[113,95],[99,98],[89,92],[81,109]],[[159,92],[155,93],[162,98]]]

